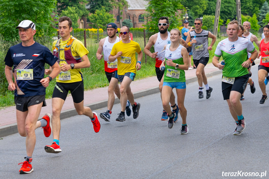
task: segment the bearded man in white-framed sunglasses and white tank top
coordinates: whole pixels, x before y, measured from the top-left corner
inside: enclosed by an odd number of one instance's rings
[[[159,89],[160,92],[162,90],[162,84],[163,84],[163,74],[164,70],[160,70],[161,63],[165,59],[165,49],[164,46],[167,44],[171,44],[170,41],[170,32],[167,31],[169,27],[169,21],[167,17],[160,17],[158,21],[158,27],[159,27],[159,32],[151,35],[151,37],[148,40],[147,45],[144,48],[145,54],[150,56],[151,58],[155,58],[156,64],[155,64],[155,71],[156,71],[156,76],[160,82],[159,84]],[[183,40],[182,40],[183,41]],[[185,41],[184,41],[185,42]],[[150,52],[150,48],[154,45],[154,53]],[[179,108],[175,104],[175,94],[172,92],[171,98],[170,98],[170,104],[173,107],[173,111],[175,112],[176,116],[175,119],[177,120],[178,118],[178,112]],[[161,120],[168,120],[168,115],[167,112],[163,109]]]

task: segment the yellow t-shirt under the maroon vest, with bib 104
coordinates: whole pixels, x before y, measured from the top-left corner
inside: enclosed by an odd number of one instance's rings
[[[65,45],[67,44],[67,42],[72,38],[71,37],[66,40],[66,41],[62,41],[60,39],[60,49],[64,49]],[[58,40],[55,40],[52,44],[52,50],[55,47],[55,44],[57,43]],[[71,53],[72,55],[75,56],[80,56],[83,57],[84,55],[87,55],[89,53],[89,51],[84,47],[84,44],[79,41],[78,39],[75,39],[72,43],[71,46]],[[60,59],[64,59],[65,54],[64,54],[64,50],[60,50]],[[59,64],[67,64],[65,61],[60,61]],[[60,79],[62,80],[60,80]],[[71,79],[70,79],[71,78]],[[79,82],[83,80],[83,76],[82,76],[82,72],[79,68],[76,69],[70,69],[67,72],[61,72],[57,77],[56,77],[56,82],[62,82],[62,83],[72,83],[72,82]]]

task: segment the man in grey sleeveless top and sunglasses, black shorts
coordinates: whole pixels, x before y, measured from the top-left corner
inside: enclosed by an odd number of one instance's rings
[[[203,82],[206,88],[206,99],[211,96],[213,90],[207,83],[207,78],[204,73],[204,67],[209,61],[209,52],[216,41],[216,36],[209,31],[202,29],[203,21],[200,18],[194,20],[195,30],[191,31],[187,36],[186,43],[192,46],[193,63],[196,66],[196,76],[199,84],[199,99],[204,97]],[[211,44],[208,46],[208,38],[211,38]]]

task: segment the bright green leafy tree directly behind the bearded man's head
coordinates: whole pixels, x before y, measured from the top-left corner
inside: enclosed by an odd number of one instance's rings
[[[147,24],[143,25],[148,32],[156,33],[159,31],[157,23],[159,17],[167,16],[169,19],[170,29],[177,28],[182,25],[181,12],[185,12],[185,7],[181,5],[181,0],[151,0],[144,14]]]

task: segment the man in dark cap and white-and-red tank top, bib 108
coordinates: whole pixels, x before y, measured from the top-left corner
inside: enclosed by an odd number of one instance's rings
[[[115,23],[109,23],[107,25],[108,36],[101,39],[96,52],[96,58],[101,60],[104,57],[105,73],[109,82],[108,86],[108,109],[106,112],[100,113],[100,117],[105,121],[110,121],[110,114],[112,113],[112,107],[115,101],[115,95],[120,99],[120,88],[118,86],[118,68],[117,60],[115,62],[109,62],[108,56],[111,53],[114,44],[119,42],[121,39],[116,35],[118,33],[118,27]],[[102,55],[103,52],[103,55]],[[126,114],[131,115],[130,102],[126,104]]]

